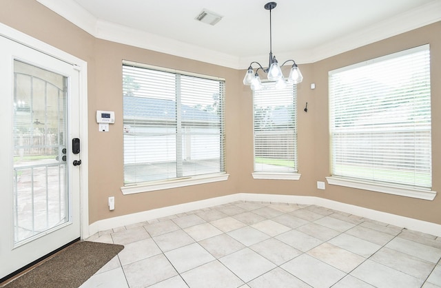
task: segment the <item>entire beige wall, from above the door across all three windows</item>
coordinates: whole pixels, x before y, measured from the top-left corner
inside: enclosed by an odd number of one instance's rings
[[[440,196],[416,200],[316,181],[329,176],[327,72],[345,65],[382,56],[424,43],[431,44],[433,189],[441,192],[441,22],[353,50],[317,63],[300,65],[304,82],[298,85],[298,167],[300,181],[254,180],[252,92],[242,85],[245,70],[192,61],[176,56],[94,39],[34,0],[2,0],[0,22],[30,34],[65,52],[88,61],[89,105],[89,210],[90,223],[148,209],[240,192],[319,196],[361,207],[441,224]],[[121,61],[139,61],[166,68],[220,76],[226,79],[226,133],[228,181],[123,196],[123,123]],[[435,65],[435,63],[438,63]],[[440,82],[440,81],[438,81]],[[309,84],[316,83],[316,90]],[[308,112],[303,112],[308,102]],[[96,110],[114,110],[110,132],[98,132]],[[110,212],[107,197],[115,196]]]

